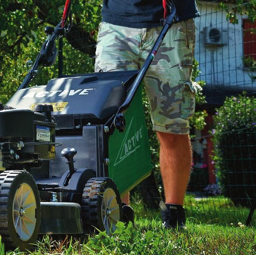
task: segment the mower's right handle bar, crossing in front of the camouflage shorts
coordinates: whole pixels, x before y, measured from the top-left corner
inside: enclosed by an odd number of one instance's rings
[[[160,34],[158,35],[158,38],[150,54],[148,54],[147,59],[145,60],[140,71],[138,72],[138,75],[129,90],[129,94],[127,95],[124,103],[120,106],[118,113],[124,113],[126,109],[129,107],[130,103],[132,102],[132,98],[134,97],[136,91],[138,90],[139,85],[141,84],[141,81],[143,80],[147,70],[149,69],[150,64],[152,63],[155,57],[155,54],[157,53],[159,47],[161,46],[161,43],[164,40],[165,35],[167,34],[167,31],[170,29],[173,23],[178,21],[178,16],[176,15],[176,8],[172,0],[167,0],[167,7],[170,11],[170,14],[167,16],[166,19],[163,20],[163,28]]]

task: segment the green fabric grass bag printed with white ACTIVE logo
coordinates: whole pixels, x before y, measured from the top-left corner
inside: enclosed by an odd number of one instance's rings
[[[124,114],[125,131],[115,129],[109,138],[109,177],[115,181],[120,195],[147,178],[152,170],[141,93],[140,86]]]

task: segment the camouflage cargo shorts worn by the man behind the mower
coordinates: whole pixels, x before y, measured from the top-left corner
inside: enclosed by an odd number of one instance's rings
[[[138,70],[144,63],[161,27],[135,29],[102,22],[99,26],[95,72]],[[193,19],[173,24],[144,77],[153,129],[188,134],[188,119],[195,111],[191,82],[195,47]]]

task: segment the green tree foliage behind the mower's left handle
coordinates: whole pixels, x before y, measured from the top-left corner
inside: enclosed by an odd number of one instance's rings
[[[35,60],[46,38],[44,27],[56,26],[60,22],[64,3],[64,0],[0,1],[1,102],[6,103],[22,82],[27,72],[26,60]],[[64,45],[64,66],[69,73],[91,72],[93,61],[89,56],[95,52],[95,31],[101,20],[101,0],[74,0],[72,12],[72,31]],[[56,63],[51,68],[43,69],[36,83],[45,84],[56,77],[57,68]]]

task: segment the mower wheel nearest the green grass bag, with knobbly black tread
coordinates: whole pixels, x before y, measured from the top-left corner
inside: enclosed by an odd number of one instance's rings
[[[83,189],[83,226],[92,226],[107,233],[114,232],[116,223],[123,220],[122,203],[118,189],[110,178],[91,178]]]

